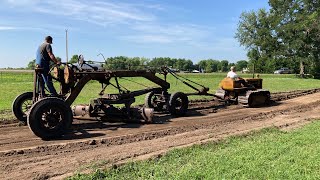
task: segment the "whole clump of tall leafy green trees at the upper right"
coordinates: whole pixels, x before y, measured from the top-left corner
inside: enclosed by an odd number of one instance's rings
[[[320,72],[318,0],[269,0],[270,9],[244,12],[236,38],[245,46],[249,66],[270,73],[289,67],[295,73]]]

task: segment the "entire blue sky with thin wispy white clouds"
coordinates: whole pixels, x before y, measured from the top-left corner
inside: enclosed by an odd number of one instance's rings
[[[234,38],[242,12],[267,0],[0,0],[0,68],[26,67],[45,36],[66,61],[103,56],[246,60]],[[99,54],[103,54],[103,56]]]

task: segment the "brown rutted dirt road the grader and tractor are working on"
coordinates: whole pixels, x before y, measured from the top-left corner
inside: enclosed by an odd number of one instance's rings
[[[297,97],[295,97],[297,96]],[[291,98],[290,97],[295,97]],[[146,159],[193,144],[276,126],[299,127],[320,118],[319,90],[273,94],[269,107],[193,102],[188,117],[157,114],[157,124],[75,120],[63,139],[42,141],[28,127],[0,128],[0,179],[61,179],[91,167]],[[278,101],[281,99],[287,99]]]

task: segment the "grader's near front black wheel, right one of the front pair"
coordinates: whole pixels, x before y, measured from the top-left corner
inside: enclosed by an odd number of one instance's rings
[[[173,116],[183,116],[188,110],[188,96],[182,92],[173,93],[169,100],[169,112]]]

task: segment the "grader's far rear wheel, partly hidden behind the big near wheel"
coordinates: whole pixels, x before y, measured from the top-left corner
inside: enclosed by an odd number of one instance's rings
[[[27,112],[32,106],[32,92],[25,92],[16,97],[12,103],[12,112],[22,123],[27,124]]]

